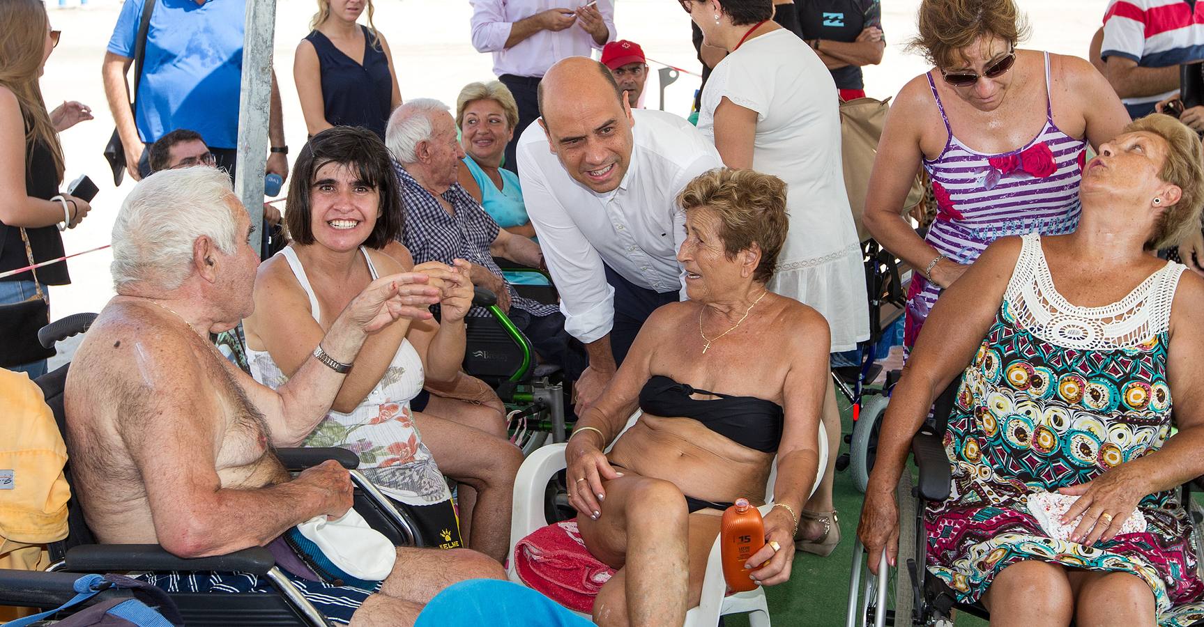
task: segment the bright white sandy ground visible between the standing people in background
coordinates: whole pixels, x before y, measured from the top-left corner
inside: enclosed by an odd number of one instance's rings
[[[1028,16],[1032,36],[1027,47],[1063,54],[1086,55],[1087,42],[1099,25],[1105,0],[1019,0]],[[78,227],[64,233],[69,254],[108,243],[113,217],[132,183],[113,188],[101,149],[113,124],[105,102],[100,64],[120,10],[117,0],[92,0],[85,6],[59,7],[48,2],[51,22],[63,30],[42,79],[47,106],[64,100],[89,105],[95,120],[77,125],[61,136],[66,152],[66,181],[87,173],[100,187],[93,212]],[[621,39],[643,46],[650,65],[674,65],[691,72],[701,66],[690,43],[689,17],[673,0],[618,0],[615,28]],[[893,95],[911,77],[927,70],[916,55],[904,51],[915,34],[917,0],[885,0],[883,26],[890,46],[881,65],[866,69],[868,94]],[[277,4],[275,66],[284,101],[285,135],[294,155],[305,143],[306,129],[293,88],[293,52],[308,31],[315,10],[312,0],[279,0]],[[492,77],[489,54],[472,48],[468,32],[471,7],[466,0],[385,0],[377,4],[374,23],[389,39],[399,72],[402,97],[437,97],[454,105],[460,88]],[[655,61],[660,61],[660,65]],[[654,72],[655,75],[655,72]],[[645,88],[645,105],[659,103],[655,76]],[[689,112],[698,78],[683,73],[665,93],[668,111]],[[51,314],[61,318],[96,312],[113,295],[107,250],[69,261],[72,284],[51,289]],[[57,361],[70,357],[72,347],[60,347]]]

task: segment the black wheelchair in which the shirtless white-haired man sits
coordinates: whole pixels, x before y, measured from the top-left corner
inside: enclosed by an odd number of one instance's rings
[[[49,348],[58,341],[87,331],[95,318],[96,314],[84,313],[52,323],[39,331],[39,341]],[[53,410],[54,420],[64,437],[66,437],[66,415],[63,408],[63,391],[69,368],[70,363],[35,380],[42,389],[46,403]],[[355,486],[355,510],[373,528],[399,546],[423,544],[423,538],[405,513],[394,508],[391,502],[355,469],[359,466],[359,457],[354,452],[337,448],[299,448],[277,449],[276,455],[291,473],[320,465],[326,460],[337,461],[350,472]],[[158,544],[96,544],[83,516],[82,498],[87,496],[79,493],[72,479],[70,461],[64,468],[64,474],[71,487],[71,498],[67,503],[67,536],[48,546],[52,564],[46,572],[0,569],[0,604],[57,608],[76,596],[72,587],[75,580],[88,573],[237,570],[265,578],[276,593],[170,592],[169,596],[179,608],[187,625],[190,627],[331,625],[281,572],[266,548],[256,546],[228,555],[185,560],[176,557]],[[110,588],[93,597],[93,602],[119,595],[122,592],[117,588]]]

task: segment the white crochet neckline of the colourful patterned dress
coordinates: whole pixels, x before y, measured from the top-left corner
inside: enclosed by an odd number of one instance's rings
[[[1005,296],[1016,326],[1058,347],[1081,350],[1133,348],[1169,329],[1170,303],[1185,266],[1168,261],[1120,301],[1080,307],[1055,288],[1040,233],[1022,239]]]

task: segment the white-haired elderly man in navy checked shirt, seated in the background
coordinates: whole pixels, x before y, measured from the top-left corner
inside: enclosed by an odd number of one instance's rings
[[[432,99],[407,101],[390,116],[385,143],[401,182],[406,211],[402,238],[414,264],[468,260],[473,284],[497,295],[498,304],[531,339],[539,359],[559,365],[568,380],[577,380],[588,362],[584,347],[565,331],[563,314],[555,304],[519,296],[494,262],[496,255],[544,266],[539,244],[498,227],[458,183],[464,149],[448,106]],[[468,315],[490,314],[473,307]]]

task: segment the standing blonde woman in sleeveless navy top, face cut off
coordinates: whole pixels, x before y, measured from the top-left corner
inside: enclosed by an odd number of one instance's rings
[[[368,25],[356,24],[364,8]],[[401,105],[389,43],[372,24],[371,0],[318,0],[313,29],[297,45],[293,78],[313,136],[331,126],[362,126],[384,138]]]

